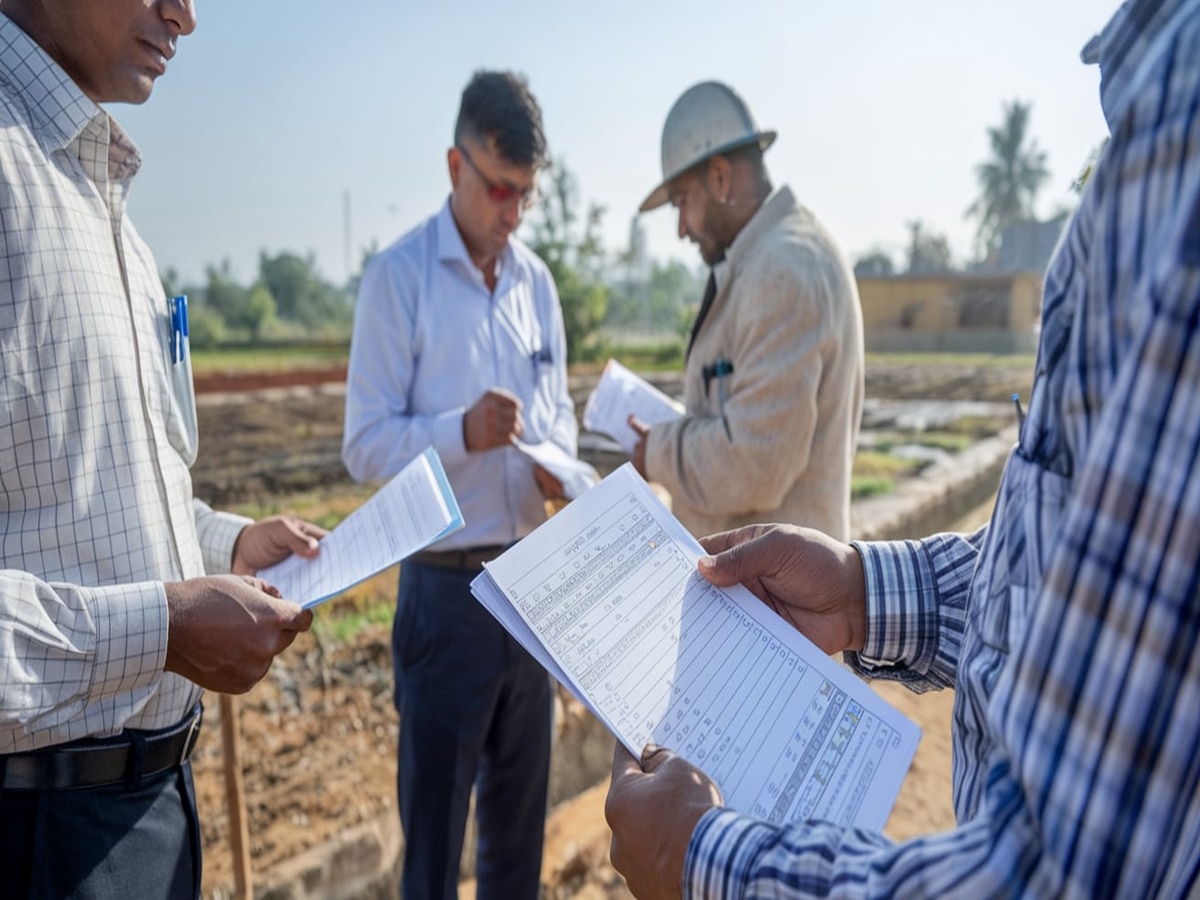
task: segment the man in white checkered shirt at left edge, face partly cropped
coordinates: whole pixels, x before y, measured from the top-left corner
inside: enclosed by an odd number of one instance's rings
[[[312,614],[250,577],[322,529],[192,497],[186,344],[125,215],[190,0],[0,2],[0,871],[12,896],[192,898],[203,688]],[[235,572],[209,575],[209,572]]]

